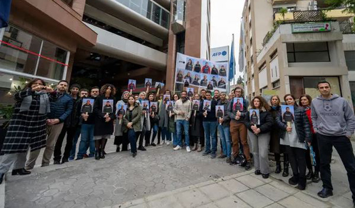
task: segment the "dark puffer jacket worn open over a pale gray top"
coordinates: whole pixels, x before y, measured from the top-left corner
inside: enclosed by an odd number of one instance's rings
[[[294,109],[295,109],[295,127],[296,127],[296,132],[297,132],[299,142],[300,143],[304,143],[305,141],[311,142],[312,136],[310,132],[308,116],[306,114],[305,109],[302,107],[298,107],[296,105],[294,106]],[[282,121],[281,114],[279,114],[279,116],[276,117],[276,123],[281,129],[280,138],[284,139],[284,136],[286,134],[287,122]]]

